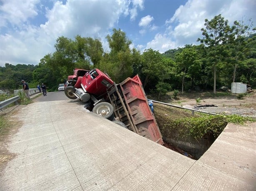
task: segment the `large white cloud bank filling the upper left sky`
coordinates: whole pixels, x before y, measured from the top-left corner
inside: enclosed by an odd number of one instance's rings
[[[51,8],[45,8],[38,0],[1,2],[0,66],[5,63],[38,64],[43,56],[55,50],[55,40],[60,36],[73,39],[79,34],[105,40],[120,15],[130,13],[131,18],[135,18],[135,9],[143,9],[144,1],[49,2],[53,3]],[[130,7],[133,7],[133,12],[129,11]],[[33,24],[33,17],[42,12],[45,13],[45,22]]]

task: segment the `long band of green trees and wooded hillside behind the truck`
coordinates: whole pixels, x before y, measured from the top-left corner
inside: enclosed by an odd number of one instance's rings
[[[163,54],[151,48],[131,48],[122,29],[113,29],[105,38],[109,51],[103,50],[98,38],[58,37],[55,51],[46,54],[37,65],[5,64],[0,67],[0,89],[20,89],[24,79],[30,88],[45,83],[56,91],[58,83],[73,74],[74,68],[98,68],[119,83],[138,74],[146,93],[157,93],[158,99],[168,91],[213,90],[243,81],[256,86],[256,33],[252,21],[229,24],[221,15],[205,20],[199,45],[185,45]],[[196,43],[196,42],[195,42]]]

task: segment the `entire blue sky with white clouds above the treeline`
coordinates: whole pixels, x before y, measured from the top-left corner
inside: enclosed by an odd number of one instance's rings
[[[60,36],[105,37],[122,29],[143,52],[198,44],[204,20],[256,22],[256,0],[0,0],[0,66],[37,65]],[[255,27],[255,26],[253,26]]]

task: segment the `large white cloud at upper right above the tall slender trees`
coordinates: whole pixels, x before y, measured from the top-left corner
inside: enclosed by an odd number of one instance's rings
[[[196,39],[202,34],[201,28],[205,27],[206,18],[211,20],[214,16],[221,14],[230,25],[235,20],[242,20],[244,15],[247,20],[252,18],[255,21],[255,8],[255,0],[188,0],[170,19],[166,20],[166,31],[157,34],[151,42],[148,42],[147,48],[152,46],[154,49],[166,51],[169,47],[177,48],[185,44],[196,44]]]

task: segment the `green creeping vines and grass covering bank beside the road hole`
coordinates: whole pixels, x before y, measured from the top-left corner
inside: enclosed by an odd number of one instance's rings
[[[195,114],[178,108],[154,104],[156,121],[165,137],[171,137],[175,132],[178,139],[199,140],[204,135],[211,134],[214,137],[223,131],[227,123],[244,125],[246,122],[254,122],[253,118],[239,115],[206,115]]]

